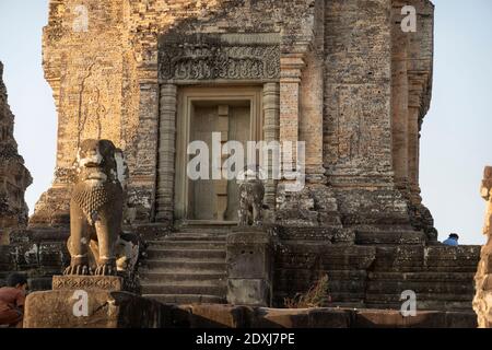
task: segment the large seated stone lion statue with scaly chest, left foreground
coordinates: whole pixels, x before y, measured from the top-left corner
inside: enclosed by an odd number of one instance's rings
[[[77,167],[70,201],[71,262],[65,275],[117,275],[138,255],[120,236],[126,175],[122,152],[108,140],[85,140],[79,148]]]

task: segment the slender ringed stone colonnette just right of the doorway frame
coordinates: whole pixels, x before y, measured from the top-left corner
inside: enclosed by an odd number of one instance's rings
[[[280,88],[278,83],[263,85],[263,140],[269,143],[279,141]],[[276,206],[277,180],[272,172],[273,156],[268,155],[268,180],[265,183],[265,203],[273,209]]]

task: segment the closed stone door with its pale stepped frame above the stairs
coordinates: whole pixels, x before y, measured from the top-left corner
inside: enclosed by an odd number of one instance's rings
[[[247,141],[258,141],[261,135],[260,89],[183,89],[178,96],[176,153],[176,212],[178,220],[235,222],[238,210],[238,185],[235,179],[213,177],[213,153],[227,141],[243,144],[246,165]],[[199,152],[187,154],[188,145],[198,141],[206,145],[208,164],[194,167],[207,178],[188,176],[188,164]],[[198,144],[198,143],[197,143]],[[219,147],[218,147],[219,145]],[[219,153],[220,154],[220,153]],[[200,156],[203,156],[200,154]],[[216,158],[218,166],[230,158]],[[203,170],[201,166],[207,166]],[[216,170],[215,170],[216,171]],[[220,168],[220,171],[222,171]]]

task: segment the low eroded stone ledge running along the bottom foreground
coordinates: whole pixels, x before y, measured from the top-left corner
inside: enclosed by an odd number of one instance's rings
[[[162,305],[118,292],[90,292],[89,316],[74,317],[72,291],[27,298],[26,328],[475,328],[473,313],[385,310],[276,310],[231,305]],[[50,306],[48,311],[43,306]],[[43,317],[40,317],[43,315]]]

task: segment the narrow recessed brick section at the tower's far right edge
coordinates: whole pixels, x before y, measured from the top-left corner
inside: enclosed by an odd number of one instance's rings
[[[417,32],[403,33],[401,9],[407,4],[394,1],[391,13],[393,165],[412,225],[435,240],[434,221],[422,205],[419,187],[420,131],[432,95],[434,5],[430,1],[413,1]]]

